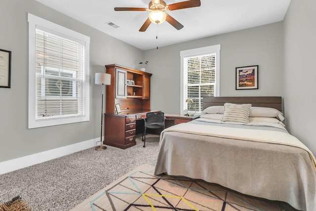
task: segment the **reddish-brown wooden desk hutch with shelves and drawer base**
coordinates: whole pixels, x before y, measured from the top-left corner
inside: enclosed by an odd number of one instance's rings
[[[150,112],[152,74],[118,64],[105,67],[111,75],[111,85],[106,87],[104,144],[126,149],[136,145],[136,120],[146,118]],[[128,80],[133,83],[127,84]],[[120,106],[120,114],[116,114],[116,104]]]

